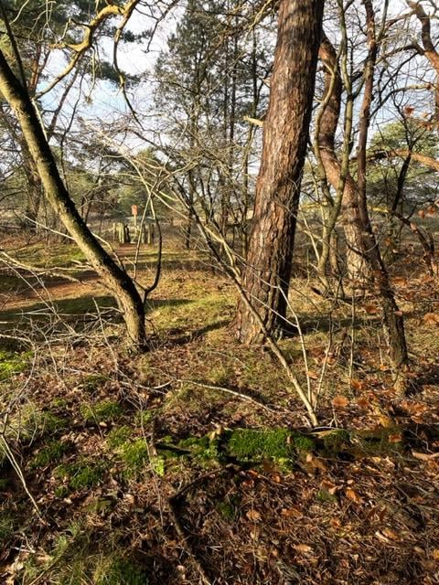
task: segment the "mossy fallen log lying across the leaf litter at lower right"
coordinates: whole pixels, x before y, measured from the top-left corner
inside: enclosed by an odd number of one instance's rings
[[[190,457],[199,463],[237,463],[244,467],[273,463],[284,470],[304,467],[310,459],[354,461],[364,457],[398,457],[425,439],[434,441],[439,428],[395,425],[373,430],[327,429],[293,431],[285,428],[224,429],[202,437],[156,443],[165,458]]]

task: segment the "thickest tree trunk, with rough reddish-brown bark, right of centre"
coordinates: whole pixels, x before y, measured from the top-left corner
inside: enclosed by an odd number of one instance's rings
[[[322,0],[281,0],[270,104],[263,124],[254,225],[243,273],[248,298],[266,330],[285,325],[296,212],[313,106],[323,17]],[[242,301],[237,336],[261,340],[261,327]]]

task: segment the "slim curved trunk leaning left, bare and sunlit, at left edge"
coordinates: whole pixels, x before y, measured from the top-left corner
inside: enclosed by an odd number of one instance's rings
[[[16,113],[29,152],[37,166],[38,175],[51,207],[68,229],[80,250],[111,290],[123,312],[129,340],[133,346],[145,346],[145,308],[134,282],[102,249],[97,239],[80,217],[60,175],[55,158],[37,118],[27,90],[17,80],[0,51],[0,91]]]

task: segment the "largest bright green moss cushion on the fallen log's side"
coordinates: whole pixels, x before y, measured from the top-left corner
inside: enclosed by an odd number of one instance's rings
[[[238,429],[230,431],[227,452],[241,462],[275,462],[291,460],[291,432],[286,429]]]

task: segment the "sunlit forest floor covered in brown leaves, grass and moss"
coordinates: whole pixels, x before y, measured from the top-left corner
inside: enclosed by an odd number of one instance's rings
[[[235,341],[236,293],[203,253],[166,247],[151,349],[130,356],[77,252],[19,248],[82,282],[0,282],[1,583],[439,583],[439,289],[419,261],[392,267],[404,399],[376,301],[294,279],[302,333],[280,345],[318,395],[310,431],[268,349]]]

